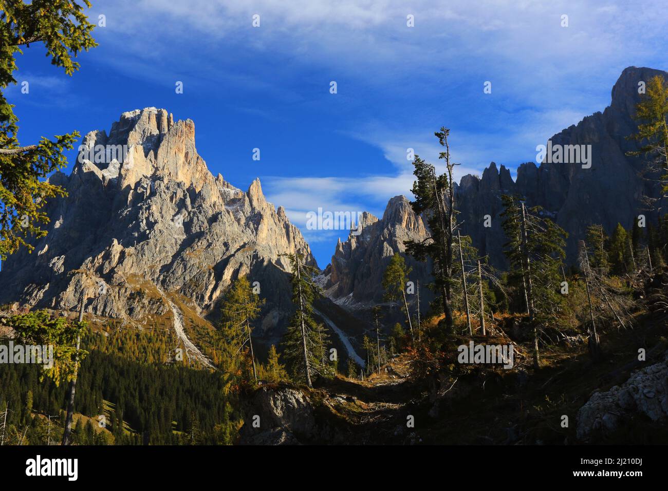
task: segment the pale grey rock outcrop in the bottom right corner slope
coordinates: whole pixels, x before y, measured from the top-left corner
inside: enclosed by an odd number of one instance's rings
[[[621,386],[594,393],[578,411],[578,439],[608,436],[640,415],[668,420],[668,353],[665,361],[637,371]]]

